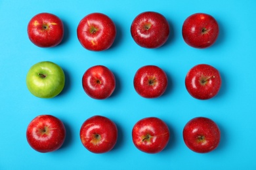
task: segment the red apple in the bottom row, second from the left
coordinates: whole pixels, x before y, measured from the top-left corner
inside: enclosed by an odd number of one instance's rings
[[[117,127],[104,116],[92,116],[83,122],[80,129],[81,143],[95,154],[109,152],[117,142]]]

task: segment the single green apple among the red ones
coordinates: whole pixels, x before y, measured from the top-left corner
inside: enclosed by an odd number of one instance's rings
[[[41,61],[33,65],[28,71],[26,84],[28,90],[36,97],[55,97],[64,88],[64,71],[56,63]]]

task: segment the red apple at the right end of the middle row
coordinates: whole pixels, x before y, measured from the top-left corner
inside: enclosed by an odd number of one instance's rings
[[[199,64],[188,71],[185,78],[186,90],[196,99],[211,99],[221,88],[221,75],[207,64]]]

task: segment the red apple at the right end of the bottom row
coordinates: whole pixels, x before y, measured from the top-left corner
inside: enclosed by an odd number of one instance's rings
[[[183,139],[190,150],[198,153],[207,153],[219,145],[221,131],[213,120],[196,117],[184,126]]]

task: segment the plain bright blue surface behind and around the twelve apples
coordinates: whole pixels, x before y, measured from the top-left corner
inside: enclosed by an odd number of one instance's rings
[[[256,169],[256,1],[0,1],[0,169]],[[163,14],[171,25],[168,42],[158,49],[138,46],[130,34],[131,22],[140,12]],[[30,19],[39,12],[59,16],[65,25],[62,44],[39,48],[26,33]],[[102,12],[114,20],[117,37],[104,52],[90,52],[79,44],[76,28],[85,15]],[[211,14],[220,35],[210,48],[185,44],[184,20],[196,12]],[[53,61],[66,74],[64,91],[53,99],[34,97],[26,88],[28,69],[39,61]],[[223,86],[207,101],[192,98],[184,86],[188,70],[198,63],[219,69]],[[95,100],[81,86],[81,77],[93,65],[110,68],[117,80],[112,97]],[[133,76],[143,65],[158,65],[168,75],[167,92],[158,99],[144,99],[133,88]],[[35,152],[26,141],[26,127],[39,114],[60,118],[67,137],[60,150]],[[111,152],[93,154],[79,139],[81,124],[100,114],[112,119],[119,137]],[[141,118],[157,116],[170,128],[171,139],[158,154],[140,152],[131,130]],[[186,122],[196,116],[214,120],[221,129],[219,147],[208,154],[189,150],[182,139]]]

